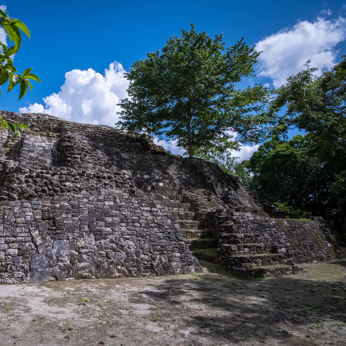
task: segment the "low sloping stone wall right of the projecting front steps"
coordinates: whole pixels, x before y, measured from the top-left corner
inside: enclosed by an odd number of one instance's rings
[[[227,251],[230,249],[228,246],[223,247],[224,244],[237,243],[232,242],[229,234],[239,235],[238,243],[254,243],[264,249],[265,253],[290,253],[295,263],[326,261],[345,255],[345,249],[336,246],[331,226],[322,218],[274,219],[223,210],[215,219],[215,233],[219,234],[220,256],[225,249],[228,249]],[[238,255],[236,247],[234,251],[232,255]]]

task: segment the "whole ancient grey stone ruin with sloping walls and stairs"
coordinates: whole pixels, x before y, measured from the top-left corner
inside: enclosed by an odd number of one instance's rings
[[[1,283],[198,272],[195,256],[269,277],[344,255],[328,222],[292,219],[150,137],[1,114],[30,128],[0,130]]]

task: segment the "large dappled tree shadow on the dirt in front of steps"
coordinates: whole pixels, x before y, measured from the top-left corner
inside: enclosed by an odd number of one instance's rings
[[[337,261],[329,266],[345,264],[346,261]],[[203,265],[210,272],[219,272],[215,265],[206,262]],[[346,340],[346,332],[341,331],[346,321],[345,280],[321,280],[319,276],[324,274],[313,277],[314,272],[312,268],[311,273],[305,270],[301,275],[253,281],[210,275],[200,275],[198,280],[169,279],[155,285],[154,290],[138,292],[138,297],[150,297],[173,307],[186,300],[195,304],[200,313],[186,311],[182,319],[187,329],[198,329],[206,338],[224,337],[235,343],[255,338],[265,343],[270,338],[285,345],[288,342],[321,345],[321,338],[329,328],[333,335],[331,344],[338,341],[343,344]],[[312,277],[304,279],[309,274]],[[341,276],[346,278],[345,273]],[[329,344],[328,338],[325,343]]]

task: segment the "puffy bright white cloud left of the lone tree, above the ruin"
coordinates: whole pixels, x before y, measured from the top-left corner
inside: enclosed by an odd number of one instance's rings
[[[30,104],[19,108],[21,113],[48,113],[59,118],[85,124],[114,126],[119,120],[117,104],[127,97],[126,72],[118,62],[109,64],[104,75],[93,69],[65,73],[61,91],[43,99],[44,105]]]

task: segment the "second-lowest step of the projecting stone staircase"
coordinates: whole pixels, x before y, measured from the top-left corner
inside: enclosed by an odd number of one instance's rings
[[[223,263],[229,263],[229,266],[238,268],[252,268],[274,264],[293,265],[292,254],[288,252],[250,256],[229,256],[228,254],[223,254],[222,251],[220,251],[220,256],[225,256],[222,260]]]

